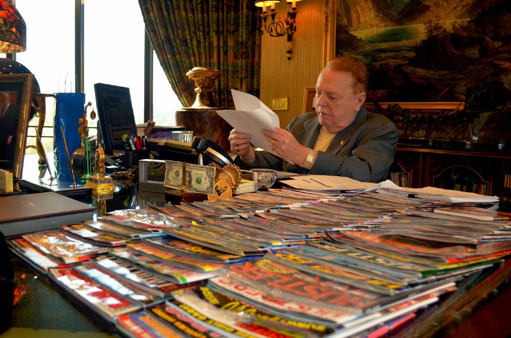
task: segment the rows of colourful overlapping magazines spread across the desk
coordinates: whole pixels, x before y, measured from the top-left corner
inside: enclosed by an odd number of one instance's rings
[[[511,253],[495,203],[270,189],[9,239],[126,336],[384,336]],[[477,215],[477,216],[476,216]]]

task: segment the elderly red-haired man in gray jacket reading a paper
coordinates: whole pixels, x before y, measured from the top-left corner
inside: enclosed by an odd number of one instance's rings
[[[301,174],[380,182],[387,176],[398,130],[387,117],[369,113],[363,103],[366,66],[354,58],[334,58],[316,83],[316,112],[296,116],[286,129],[262,130],[275,156],[256,152],[250,134],[229,134],[235,163]]]

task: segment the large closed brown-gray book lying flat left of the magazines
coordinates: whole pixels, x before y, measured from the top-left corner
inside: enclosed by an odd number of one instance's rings
[[[62,225],[92,220],[96,207],[57,194],[39,194],[2,197],[0,231],[5,236],[57,229]]]

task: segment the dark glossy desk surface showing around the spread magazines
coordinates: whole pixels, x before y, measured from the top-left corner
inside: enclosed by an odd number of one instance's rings
[[[131,208],[133,203],[138,205],[141,201],[136,185],[121,187],[118,194],[119,197],[113,199],[108,208]],[[36,275],[16,259],[14,265],[18,274]],[[421,338],[506,337],[511,334],[511,323],[508,321],[511,318],[510,278],[511,259],[507,258],[499,267],[464,280],[456,292],[420,313],[414,322],[393,335]],[[10,332],[16,334],[19,332],[18,328],[39,329],[32,331],[31,337],[44,336],[38,335],[45,334],[41,329],[81,332],[80,334],[86,332],[83,334],[87,334],[87,337],[91,336],[90,333],[116,334],[111,327],[84,311],[74,300],[41,277],[32,281],[29,293],[14,308],[13,327],[14,330],[8,330],[4,335],[7,336]]]

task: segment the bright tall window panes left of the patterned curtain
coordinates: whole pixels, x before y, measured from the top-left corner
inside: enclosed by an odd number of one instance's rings
[[[136,1],[84,0],[85,102],[96,107],[94,84],[130,88],[135,121],[144,123],[144,20]],[[42,93],[75,91],[75,2],[16,0],[27,25],[27,50],[16,61],[35,74]],[[122,15],[112,15],[122,13]],[[5,56],[5,55],[3,55]],[[175,124],[182,107],[156,56],[153,65],[153,119],[157,125]],[[53,152],[53,99],[47,99],[43,136]],[[89,120],[89,128],[96,126]],[[37,125],[32,121],[31,125]],[[95,133],[91,130],[90,134]],[[35,131],[29,135],[35,135]],[[35,144],[35,139],[27,144]]]

